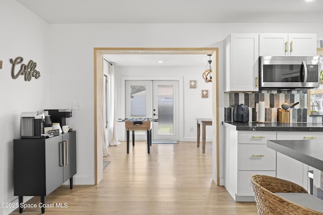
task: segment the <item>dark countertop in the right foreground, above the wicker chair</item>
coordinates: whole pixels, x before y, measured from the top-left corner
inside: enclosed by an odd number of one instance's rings
[[[323,144],[319,140],[267,140],[267,147],[323,171]]]

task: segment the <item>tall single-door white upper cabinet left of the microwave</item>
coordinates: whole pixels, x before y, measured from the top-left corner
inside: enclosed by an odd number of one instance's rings
[[[230,34],[224,52],[225,91],[258,91],[259,34]]]

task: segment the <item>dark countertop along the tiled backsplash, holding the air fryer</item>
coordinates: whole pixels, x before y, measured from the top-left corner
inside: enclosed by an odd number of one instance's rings
[[[256,123],[224,121],[222,124],[235,130],[245,131],[323,131],[323,123],[311,122],[292,122],[285,124],[278,122]]]

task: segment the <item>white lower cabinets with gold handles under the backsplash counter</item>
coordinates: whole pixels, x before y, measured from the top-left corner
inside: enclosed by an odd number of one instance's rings
[[[298,131],[225,131],[225,187],[235,201],[254,201],[250,177],[255,174],[282,178],[309,191],[308,165],[267,148],[267,140],[315,139],[323,132]]]

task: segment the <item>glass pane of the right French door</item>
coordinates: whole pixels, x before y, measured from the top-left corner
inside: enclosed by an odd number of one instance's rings
[[[174,134],[174,86],[158,86],[158,134]]]

